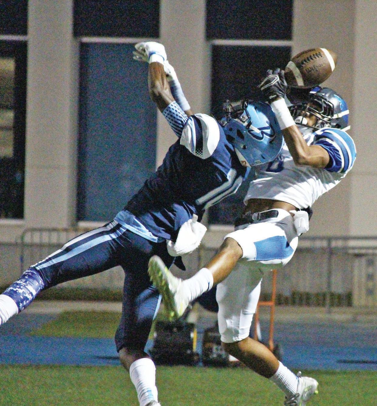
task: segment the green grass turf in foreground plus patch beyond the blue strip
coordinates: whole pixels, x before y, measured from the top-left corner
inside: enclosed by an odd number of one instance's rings
[[[66,312],[32,334],[112,338],[119,316]],[[319,381],[319,395],[310,405],[377,405],[376,372],[302,372]],[[0,374],[0,405],[138,406],[128,373],[120,366],[0,365]],[[163,406],[282,406],[284,401],[274,384],[242,367],[158,366],[157,385]]]

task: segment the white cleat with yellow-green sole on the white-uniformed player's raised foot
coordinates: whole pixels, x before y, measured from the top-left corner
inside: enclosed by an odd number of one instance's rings
[[[169,320],[179,319],[189,305],[189,299],[183,292],[182,279],[174,276],[157,255],[149,260],[148,274],[162,295]]]

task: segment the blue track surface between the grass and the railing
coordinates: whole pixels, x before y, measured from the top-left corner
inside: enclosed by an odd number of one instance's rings
[[[0,328],[0,363],[119,365],[112,339],[34,337],[31,329],[56,316],[21,313]],[[198,328],[198,352],[208,321]],[[210,324],[209,324],[210,325]],[[266,326],[262,322],[262,331]],[[377,328],[365,323],[275,323],[275,343],[291,369],[377,370]],[[147,349],[152,341],[147,344]]]

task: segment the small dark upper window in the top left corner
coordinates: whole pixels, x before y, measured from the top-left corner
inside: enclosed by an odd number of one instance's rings
[[[0,0],[0,35],[27,35],[28,0]]]

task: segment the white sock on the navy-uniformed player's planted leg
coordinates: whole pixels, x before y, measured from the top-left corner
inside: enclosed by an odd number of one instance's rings
[[[150,358],[140,358],[130,367],[130,377],[135,385],[140,406],[157,400],[156,367]]]

